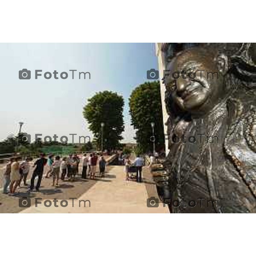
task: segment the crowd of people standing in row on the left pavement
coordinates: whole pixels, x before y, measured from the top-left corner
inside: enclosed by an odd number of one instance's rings
[[[30,171],[30,163],[32,158],[26,157],[21,163],[19,162],[20,157],[12,157],[5,167],[3,175],[3,193],[9,195],[15,195],[18,187],[23,182],[24,186],[28,186],[28,192],[32,192],[35,188],[39,191],[41,186],[41,180],[44,174],[44,167],[48,166],[48,171],[45,178],[52,178],[52,186],[58,186],[59,180],[74,181],[76,175],[79,173],[79,163],[82,163],[81,178],[92,180],[95,179],[96,166],[99,166],[100,177],[105,176],[106,160],[101,154],[91,153],[84,154],[83,157],[78,157],[77,154],[70,154],[68,157],[61,157],[53,154],[45,157],[45,154],[41,154],[40,158],[33,164],[33,174],[30,179],[30,185],[26,183],[27,177]],[[35,186],[35,178],[38,177],[37,184]],[[9,192],[8,192],[9,186]]]

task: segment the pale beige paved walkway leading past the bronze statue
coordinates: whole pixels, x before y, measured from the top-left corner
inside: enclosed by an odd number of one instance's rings
[[[52,198],[49,198],[52,205],[45,207],[44,203],[48,205],[49,201],[44,198],[38,207],[33,204],[21,213],[168,213],[168,208],[163,207],[163,204],[159,204],[159,207],[147,207],[147,198],[157,197],[157,192],[147,167],[143,168],[143,175],[143,183],[125,181],[123,166],[113,166],[101,182],[95,183],[79,198],[58,198],[55,203],[58,207],[54,206]],[[61,200],[67,201],[67,207],[61,207]],[[90,207],[87,200],[90,201]],[[63,205],[65,204],[63,201]]]

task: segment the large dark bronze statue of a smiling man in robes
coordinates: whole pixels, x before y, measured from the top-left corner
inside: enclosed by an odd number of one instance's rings
[[[172,212],[256,212],[255,45],[240,46],[186,49],[167,67],[165,198]],[[182,136],[197,140],[177,143]]]

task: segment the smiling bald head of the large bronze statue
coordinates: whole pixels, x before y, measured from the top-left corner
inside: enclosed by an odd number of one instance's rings
[[[166,86],[172,91],[177,105],[184,111],[207,113],[224,95],[223,73],[218,69],[218,61],[213,55],[206,56],[200,49],[194,48],[178,55],[167,69],[170,70],[170,76],[166,77]],[[173,72],[179,72],[180,77],[173,79]],[[196,73],[195,79],[189,78],[188,74],[191,72]]]

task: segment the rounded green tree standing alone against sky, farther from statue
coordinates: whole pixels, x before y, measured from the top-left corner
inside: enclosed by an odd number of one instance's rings
[[[122,140],[124,99],[117,93],[103,91],[88,99],[83,115],[93,132],[93,142],[101,148],[103,130],[103,149],[114,149]],[[101,123],[104,123],[102,129]]]

